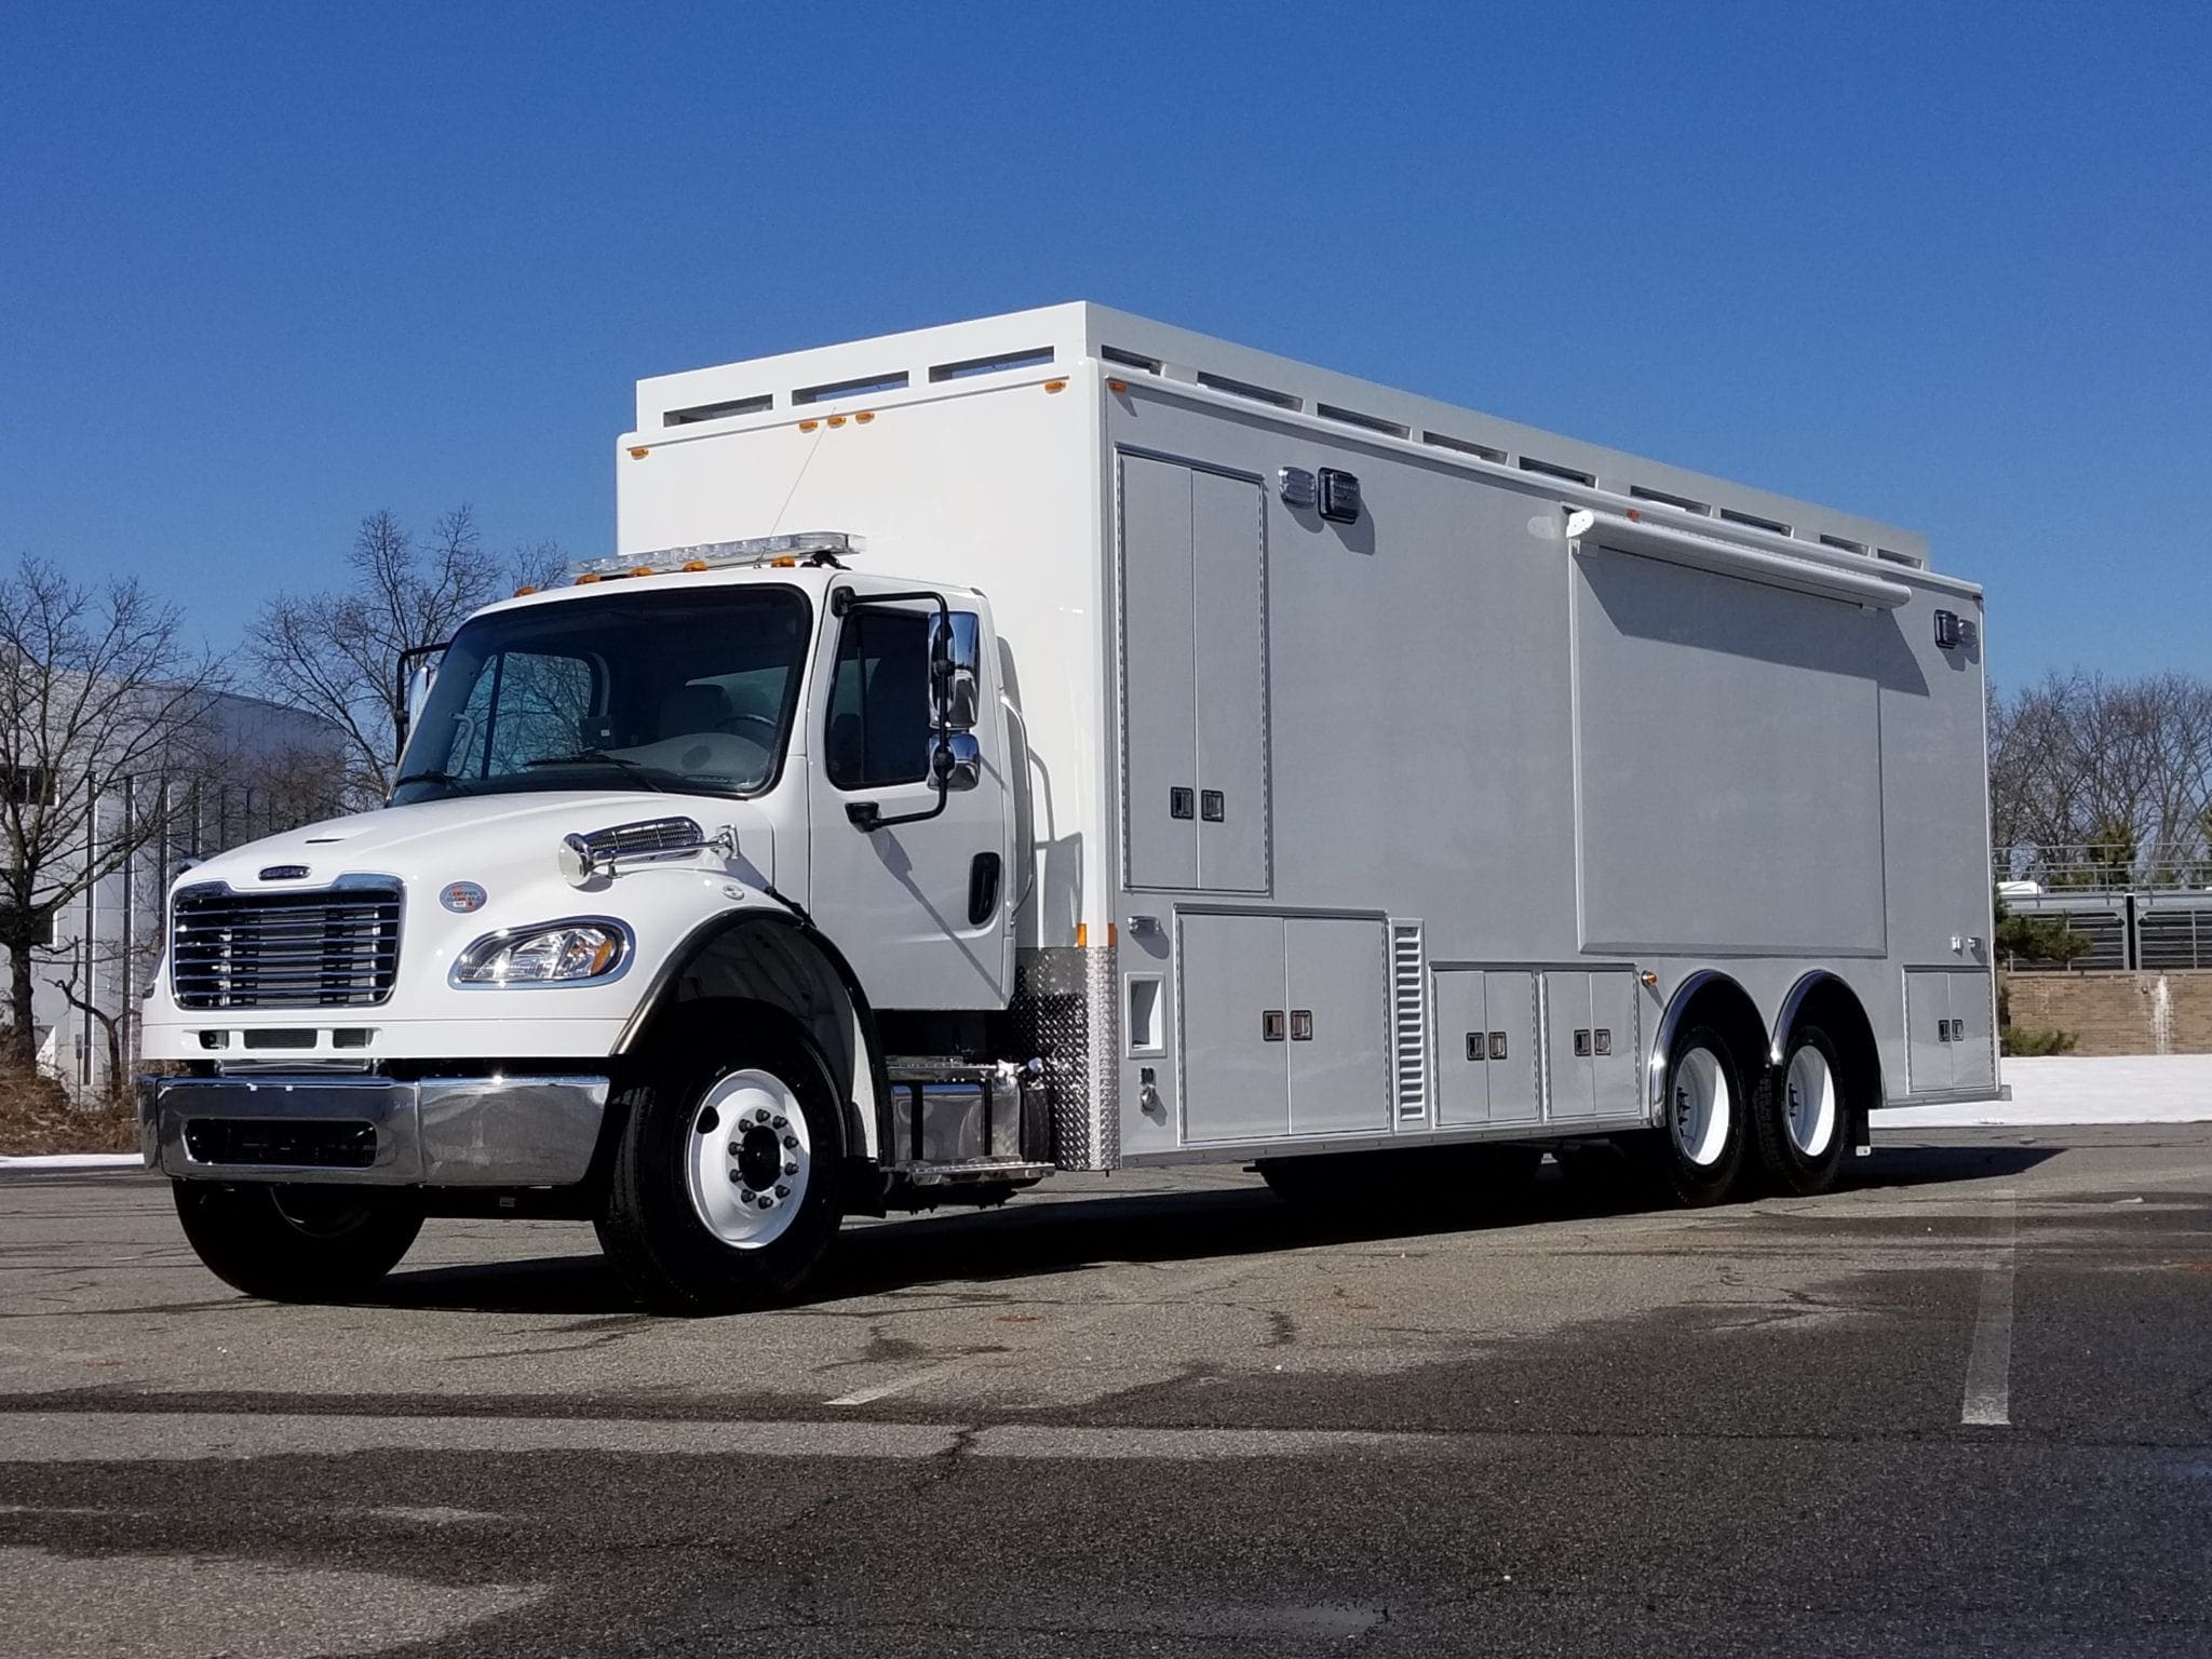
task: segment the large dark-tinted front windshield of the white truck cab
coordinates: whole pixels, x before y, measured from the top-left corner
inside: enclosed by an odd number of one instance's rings
[[[672,588],[500,611],[453,635],[392,803],[626,785],[757,794],[807,648],[794,588]]]

